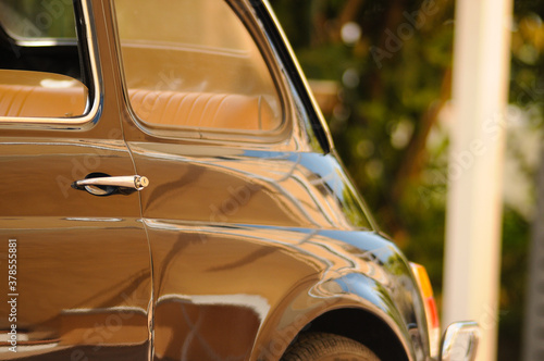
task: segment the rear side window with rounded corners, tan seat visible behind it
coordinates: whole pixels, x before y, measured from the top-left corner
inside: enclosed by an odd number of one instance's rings
[[[156,127],[270,132],[282,102],[246,26],[224,0],[115,0],[128,98]]]

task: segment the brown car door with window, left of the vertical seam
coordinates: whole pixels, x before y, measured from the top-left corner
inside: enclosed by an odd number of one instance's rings
[[[138,190],[103,185],[136,174],[101,2],[25,3],[0,1],[0,359],[147,360]]]

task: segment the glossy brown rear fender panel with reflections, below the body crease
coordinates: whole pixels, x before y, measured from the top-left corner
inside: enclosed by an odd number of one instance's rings
[[[404,260],[397,259],[398,251],[392,244],[373,232],[354,235],[272,226],[195,225],[172,220],[145,223],[154,239],[159,360],[211,360],[212,353],[206,352],[212,351],[221,358],[247,358],[243,350],[250,349],[259,334],[272,332],[268,327],[277,315],[268,310],[281,309],[283,303],[308,314],[323,303],[349,301],[368,309],[378,307],[393,320],[392,328],[405,335],[406,344],[410,331],[403,325],[417,323],[410,303],[418,302],[417,289],[410,279],[399,282],[404,276],[393,272],[395,266],[403,266],[397,263]],[[176,240],[169,234],[176,235]],[[343,236],[351,244],[345,242]],[[256,326],[237,331],[239,323],[233,315]],[[294,315],[287,312],[275,322],[289,324]],[[272,328],[281,329],[277,324]],[[242,333],[240,339],[246,341],[234,347],[231,332],[221,338],[212,329]]]

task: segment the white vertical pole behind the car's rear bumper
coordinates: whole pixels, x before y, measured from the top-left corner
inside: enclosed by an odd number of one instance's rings
[[[474,320],[496,360],[512,0],[456,2],[443,326]]]

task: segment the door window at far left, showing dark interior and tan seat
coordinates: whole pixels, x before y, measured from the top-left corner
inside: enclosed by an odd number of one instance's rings
[[[72,1],[0,0],[0,121],[88,112],[87,45],[78,43],[75,24]]]

